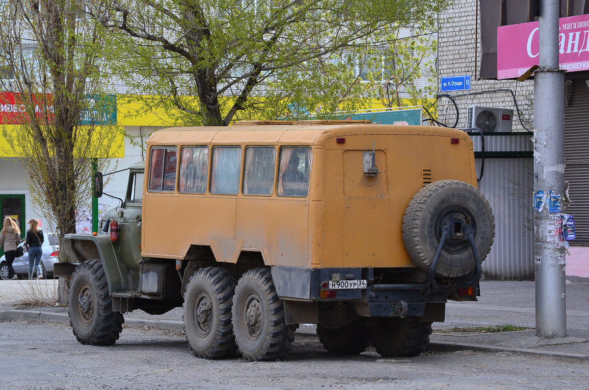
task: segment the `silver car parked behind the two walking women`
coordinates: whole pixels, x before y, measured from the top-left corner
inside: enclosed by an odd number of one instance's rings
[[[45,233],[45,241],[43,242],[43,255],[41,256],[41,270],[44,278],[53,277],[53,265],[57,263],[57,255],[59,254],[59,245],[57,245],[57,235],[54,233]],[[25,239],[23,238],[18,246],[25,245]],[[29,275],[29,254],[25,252],[21,257],[17,257],[12,262],[12,268],[16,275],[23,276],[25,279]],[[37,269],[33,270],[34,277],[37,277]],[[6,265],[6,259],[3,255],[0,257],[0,279],[8,280],[8,266]]]

